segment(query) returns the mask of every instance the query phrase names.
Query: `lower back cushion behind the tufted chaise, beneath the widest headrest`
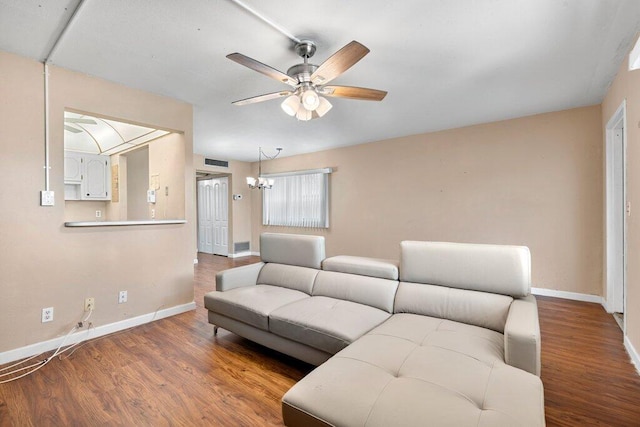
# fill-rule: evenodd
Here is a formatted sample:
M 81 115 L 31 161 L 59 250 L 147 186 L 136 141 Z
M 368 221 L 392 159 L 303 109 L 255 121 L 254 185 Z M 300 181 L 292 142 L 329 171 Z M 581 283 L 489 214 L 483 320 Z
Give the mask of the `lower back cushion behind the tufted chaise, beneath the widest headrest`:
M 400 282 L 394 313 L 449 319 L 504 333 L 512 301 L 506 295 Z

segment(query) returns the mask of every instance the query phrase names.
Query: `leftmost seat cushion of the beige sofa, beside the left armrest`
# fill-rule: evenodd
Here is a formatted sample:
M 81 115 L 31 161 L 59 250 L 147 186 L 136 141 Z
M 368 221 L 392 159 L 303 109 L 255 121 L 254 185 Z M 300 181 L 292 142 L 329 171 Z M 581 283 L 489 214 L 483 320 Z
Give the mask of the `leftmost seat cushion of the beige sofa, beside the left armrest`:
M 204 296 L 204 306 L 215 313 L 269 330 L 269 314 L 289 303 L 310 298 L 304 292 L 280 286 L 255 285 Z

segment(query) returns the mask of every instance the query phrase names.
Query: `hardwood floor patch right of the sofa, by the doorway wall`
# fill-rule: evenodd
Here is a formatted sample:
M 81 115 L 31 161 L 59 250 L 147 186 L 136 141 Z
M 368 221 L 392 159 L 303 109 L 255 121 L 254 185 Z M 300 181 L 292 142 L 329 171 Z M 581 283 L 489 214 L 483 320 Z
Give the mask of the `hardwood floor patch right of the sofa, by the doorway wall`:
M 640 376 L 599 304 L 537 297 L 548 426 L 640 426 Z

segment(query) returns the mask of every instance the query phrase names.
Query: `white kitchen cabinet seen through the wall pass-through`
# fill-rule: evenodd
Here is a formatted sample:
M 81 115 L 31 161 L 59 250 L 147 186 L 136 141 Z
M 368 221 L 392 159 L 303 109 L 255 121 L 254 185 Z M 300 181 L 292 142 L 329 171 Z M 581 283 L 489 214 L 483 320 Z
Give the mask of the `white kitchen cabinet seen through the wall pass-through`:
M 111 200 L 111 159 L 65 151 L 64 184 L 65 200 Z

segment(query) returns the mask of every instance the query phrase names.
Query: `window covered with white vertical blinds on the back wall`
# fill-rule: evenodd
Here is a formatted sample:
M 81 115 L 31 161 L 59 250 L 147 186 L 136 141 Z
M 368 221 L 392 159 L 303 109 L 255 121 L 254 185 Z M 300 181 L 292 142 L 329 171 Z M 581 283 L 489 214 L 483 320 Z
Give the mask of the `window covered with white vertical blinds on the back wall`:
M 329 228 L 331 169 L 265 175 L 273 187 L 262 196 L 262 224 Z

